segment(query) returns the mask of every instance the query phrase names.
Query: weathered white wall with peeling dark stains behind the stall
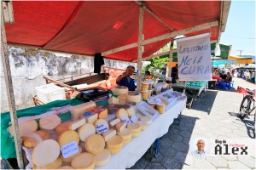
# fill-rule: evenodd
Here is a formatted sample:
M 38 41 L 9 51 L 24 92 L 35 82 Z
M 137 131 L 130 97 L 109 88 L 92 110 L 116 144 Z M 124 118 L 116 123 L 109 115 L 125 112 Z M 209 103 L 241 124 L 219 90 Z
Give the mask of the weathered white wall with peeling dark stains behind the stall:
M 35 87 L 45 84 L 44 76 L 61 79 L 93 72 L 94 59 L 86 55 L 49 53 L 33 48 L 9 47 L 9 59 L 17 109 L 33 106 Z M 105 65 L 125 69 L 137 64 L 105 59 Z M 9 111 L 1 59 L 1 112 Z

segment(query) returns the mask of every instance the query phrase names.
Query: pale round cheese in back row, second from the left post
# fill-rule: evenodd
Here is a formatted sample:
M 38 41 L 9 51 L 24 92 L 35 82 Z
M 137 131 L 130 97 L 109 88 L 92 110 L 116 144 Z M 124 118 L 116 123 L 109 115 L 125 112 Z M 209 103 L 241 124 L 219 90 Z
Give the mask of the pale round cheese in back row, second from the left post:
M 61 118 L 56 115 L 44 116 L 39 120 L 39 127 L 43 130 L 53 130 L 61 124 Z

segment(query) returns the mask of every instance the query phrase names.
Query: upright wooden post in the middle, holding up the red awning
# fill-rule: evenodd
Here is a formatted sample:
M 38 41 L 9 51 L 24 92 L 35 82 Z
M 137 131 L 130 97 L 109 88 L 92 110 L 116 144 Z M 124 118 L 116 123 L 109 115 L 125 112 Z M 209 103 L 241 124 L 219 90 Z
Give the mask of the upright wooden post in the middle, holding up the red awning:
M 143 65 L 143 6 L 139 8 L 138 48 L 137 48 L 137 92 L 141 91 Z

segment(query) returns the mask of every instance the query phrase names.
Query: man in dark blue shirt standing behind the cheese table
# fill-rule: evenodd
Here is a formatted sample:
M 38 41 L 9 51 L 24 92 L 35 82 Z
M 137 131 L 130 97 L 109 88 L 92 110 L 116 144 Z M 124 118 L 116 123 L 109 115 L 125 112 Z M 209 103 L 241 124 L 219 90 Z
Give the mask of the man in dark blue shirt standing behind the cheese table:
M 134 71 L 134 66 L 127 66 L 126 71 L 116 78 L 116 83 L 119 86 L 125 86 L 129 88 L 129 91 L 135 91 L 136 86 L 134 80 L 131 78 L 131 75 L 133 74 Z

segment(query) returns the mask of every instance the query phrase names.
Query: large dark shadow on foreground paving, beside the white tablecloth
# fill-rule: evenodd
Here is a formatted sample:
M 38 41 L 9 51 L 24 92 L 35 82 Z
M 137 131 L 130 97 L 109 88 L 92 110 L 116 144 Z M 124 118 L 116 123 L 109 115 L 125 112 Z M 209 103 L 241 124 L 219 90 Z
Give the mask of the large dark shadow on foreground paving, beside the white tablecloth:
M 152 159 L 152 153 L 148 149 L 131 169 L 182 169 L 186 165 L 189 140 L 197 118 L 183 115 L 179 117 L 180 122 L 175 120 L 168 133 L 160 138 L 159 155 Z

